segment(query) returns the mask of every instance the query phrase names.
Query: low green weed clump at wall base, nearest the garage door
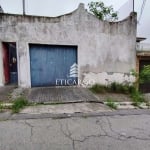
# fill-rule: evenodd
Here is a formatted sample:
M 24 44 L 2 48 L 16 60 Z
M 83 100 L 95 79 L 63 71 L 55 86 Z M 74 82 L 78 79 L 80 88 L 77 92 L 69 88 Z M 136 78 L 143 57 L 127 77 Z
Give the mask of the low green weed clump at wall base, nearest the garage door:
M 95 84 L 91 88 L 89 88 L 93 93 L 105 93 L 107 91 L 107 87 L 101 84 Z

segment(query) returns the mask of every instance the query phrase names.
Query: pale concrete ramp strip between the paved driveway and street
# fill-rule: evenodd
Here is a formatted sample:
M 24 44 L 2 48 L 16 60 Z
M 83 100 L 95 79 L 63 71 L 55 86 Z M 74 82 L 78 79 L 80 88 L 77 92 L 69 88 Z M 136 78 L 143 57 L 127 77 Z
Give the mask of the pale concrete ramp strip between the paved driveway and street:
M 99 113 L 112 111 L 100 103 L 68 103 L 55 105 L 36 105 L 23 109 L 21 114 L 74 114 L 74 113 Z

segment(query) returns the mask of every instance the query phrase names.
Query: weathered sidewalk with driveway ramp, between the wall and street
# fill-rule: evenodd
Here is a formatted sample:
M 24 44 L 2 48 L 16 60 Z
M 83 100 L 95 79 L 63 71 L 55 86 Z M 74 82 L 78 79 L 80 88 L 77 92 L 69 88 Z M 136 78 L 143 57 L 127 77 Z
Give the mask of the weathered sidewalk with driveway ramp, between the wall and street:
M 3 93 L 4 91 L 4 93 Z M 31 106 L 25 107 L 20 111 L 18 115 L 74 115 L 74 114 L 98 114 L 117 112 L 118 110 L 140 110 L 148 109 L 149 106 L 146 103 L 141 103 L 140 107 L 133 106 L 129 95 L 105 93 L 105 94 L 93 94 L 89 89 L 81 87 L 48 87 L 48 88 L 32 88 L 21 89 L 16 87 L 4 87 L 0 88 L 0 98 L 5 97 L 3 105 L 11 106 L 12 100 L 7 99 L 8 96 L 12 96 L 15 99 L 18 96 L 25 96 Z M 149 99 L 150 95 L 147 95 Z M 107 105 L 107 99 L 112 98 L 115 100 L 113 104 L 117 105 L 117 110 L 114 110 Z M 2 99 L 1 99 L 2 100 Z M 9 102 L 9 103 L 7 103 Z M 35 106 L 33 106 L 35 104 Z M 8 111 L 3 114 L 10 114 Z M 0 117 L 1 118 L 1 117 Z M 3 117 L 2 117 L 3 118 Z M 7 118 L 7 117 L 6 117 Z

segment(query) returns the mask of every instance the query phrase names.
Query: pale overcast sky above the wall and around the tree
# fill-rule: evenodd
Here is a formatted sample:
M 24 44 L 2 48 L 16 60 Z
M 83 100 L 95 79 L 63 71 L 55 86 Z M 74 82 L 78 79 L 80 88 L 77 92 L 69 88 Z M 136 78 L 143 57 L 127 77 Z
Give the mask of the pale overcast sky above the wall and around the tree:
M 38 16 L 60 16 L 75 10 L 79 3 L 84 3 L 85 8 L 87 4 L 91 1 L 96 0 L 25 0 L 26 6 L 26 14 L 28 15 L 38 15 Z M 126 3 L 130 1 L 132 4 L 133 0 L 102 0 L 106 6 L 112 5 L 114 10 L 123 12 L 123 17 L 120 19 L 124 19 L 127 17 L 132 9 L 131 5 L 127 5 Z M 135 11 L 140 13 L 141 5 L 143 0 L 135 0 Z M 0 0 L 0 5 L 2 6 L 5 13 L 14 13 L 14 14 L 22 14 L 22 0 Z M 128 7 L 129 6 L 129 7 Z M 146 37 L 148 40 L 146 42 L 150 43 L 150 17 L 149 17 L 149 9 L 150 9 L 150 0 L 147 0 L 145 9 L 143 11 L 143 15 L 138 24 L 138 36 Z

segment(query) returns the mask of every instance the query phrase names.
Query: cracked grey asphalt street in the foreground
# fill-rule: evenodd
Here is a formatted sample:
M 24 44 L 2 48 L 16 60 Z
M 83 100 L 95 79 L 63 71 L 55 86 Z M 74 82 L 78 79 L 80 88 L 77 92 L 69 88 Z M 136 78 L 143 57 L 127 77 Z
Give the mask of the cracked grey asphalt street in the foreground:
M 0 150 L 149 150 L 150 115 L 0 121 Z

